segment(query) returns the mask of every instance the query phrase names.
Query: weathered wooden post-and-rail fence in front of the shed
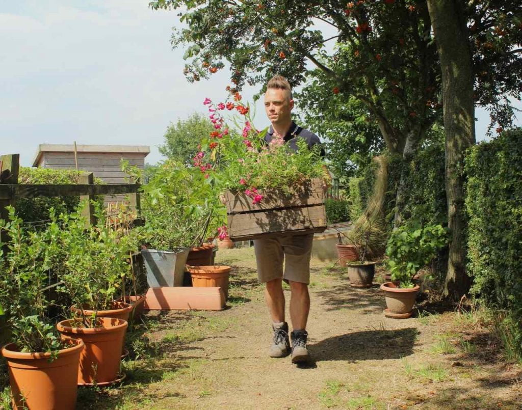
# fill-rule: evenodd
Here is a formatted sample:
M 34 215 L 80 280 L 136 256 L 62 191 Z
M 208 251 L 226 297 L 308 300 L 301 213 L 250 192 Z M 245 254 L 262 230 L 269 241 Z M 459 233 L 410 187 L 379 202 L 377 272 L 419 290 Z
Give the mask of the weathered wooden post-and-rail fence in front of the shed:
M 80 200 L 88 199 L 81 214 L 90 224 L 95 223 L 91 200 L 96 195 L 129 194 L 130 206 L 137 210 L 138 215 L 140 213 L 140 184 L 94 185 L 92 172 L 80 175 L 78 184 L 18 184 L 19 161 L 20 154 L 0 156 L 0 219 L 7 219 L 6 207 L 16 207 L 17 198 L 36 197 L 79 196 Z

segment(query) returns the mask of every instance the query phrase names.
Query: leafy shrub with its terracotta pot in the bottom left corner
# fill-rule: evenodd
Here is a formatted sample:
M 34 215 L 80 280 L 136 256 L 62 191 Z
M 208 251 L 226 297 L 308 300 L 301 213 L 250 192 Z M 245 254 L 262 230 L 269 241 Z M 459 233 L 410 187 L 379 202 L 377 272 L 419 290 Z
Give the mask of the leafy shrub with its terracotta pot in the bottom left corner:
M 10 242 L 0 244 L 0 300 L 11 329 L 2 348 L 14 408 L 74 409 L 84 343 L 62 339 L 49 318 L 52 300 L 45 288 L 55 259 L 52 230 L 29 232 L 14 209 L 0 221 Z

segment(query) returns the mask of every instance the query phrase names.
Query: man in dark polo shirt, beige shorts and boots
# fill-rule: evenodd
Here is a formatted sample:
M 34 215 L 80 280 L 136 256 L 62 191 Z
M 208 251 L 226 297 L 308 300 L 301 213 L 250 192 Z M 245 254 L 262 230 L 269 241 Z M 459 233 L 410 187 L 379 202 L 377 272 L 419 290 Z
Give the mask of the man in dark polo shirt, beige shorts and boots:
M 272 124 L 265 136 L 269 143 L 272 138 L 283 138 L 284 143 L 296 151 L 297 141 L 303 138 L 309 148 L 320 143 L 312 132 L 303 129 L 292 121 L 294 106 L 292 90 L 288 81 L 275 76 L 267 84 L 265 111 Z M 284 294 L 282 281 L 290 285 L 290 319 L 293 331 L 292 363 L 310 360 L 306 348 L 308 333 L 306 321 L 310 311 L 310 253 L 313 234 L 278 236 L 254 240 L 259 281 L 266 283 L 265 299 L 272 319 L 274 343 L 270 347 L 270 357 L 286 357 L 290 354 L 288 324 L 284 319 Z M 284 272 L 283 272 L 284 259 Z

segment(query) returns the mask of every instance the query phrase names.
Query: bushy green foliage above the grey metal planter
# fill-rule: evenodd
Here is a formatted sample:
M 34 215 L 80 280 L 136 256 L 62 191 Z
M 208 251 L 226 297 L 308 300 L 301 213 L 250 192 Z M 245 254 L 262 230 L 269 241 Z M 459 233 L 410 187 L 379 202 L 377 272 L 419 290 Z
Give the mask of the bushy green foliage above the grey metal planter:
M 140 170 L 124 164 L 139 176 Z M 145 226 L 136 232 L 148 247 L 160 250 L 200 246 L 226 223 L 226 210 L 214 180 L 198 167 L 174 160 L 160 163 L 148 183 L 141 186 L 141 214 Z

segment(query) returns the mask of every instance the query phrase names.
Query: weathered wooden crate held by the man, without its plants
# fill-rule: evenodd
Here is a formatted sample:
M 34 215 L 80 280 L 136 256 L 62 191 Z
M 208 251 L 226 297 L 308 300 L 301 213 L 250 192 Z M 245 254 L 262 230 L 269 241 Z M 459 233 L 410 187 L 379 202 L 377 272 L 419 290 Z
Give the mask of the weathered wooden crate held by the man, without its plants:
M 250 240 L 269 235 L 306 234 L 326 229 L 324 191 L 321 179 L 296 186 L 292 194 L 270 189 L 252 204 L 241 192 L 226 192 L 228 233 L 232 240 Z

